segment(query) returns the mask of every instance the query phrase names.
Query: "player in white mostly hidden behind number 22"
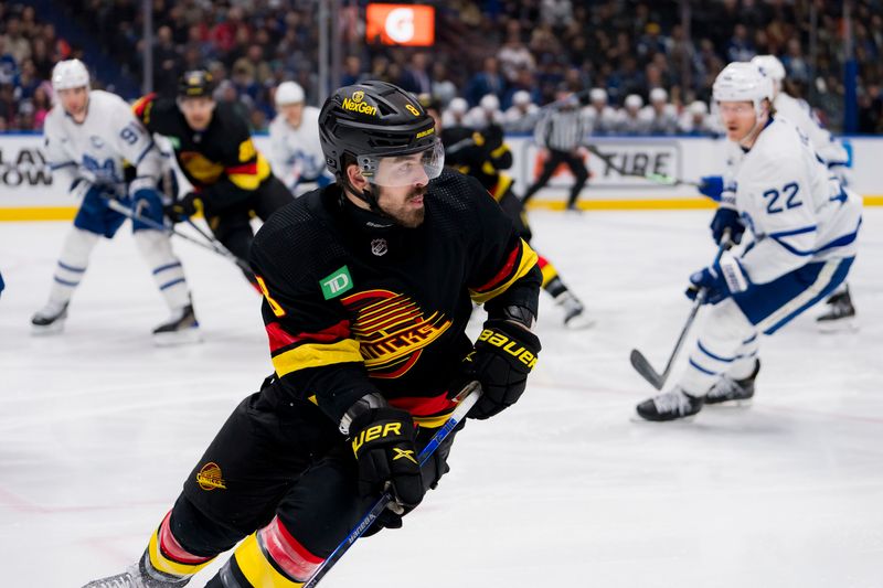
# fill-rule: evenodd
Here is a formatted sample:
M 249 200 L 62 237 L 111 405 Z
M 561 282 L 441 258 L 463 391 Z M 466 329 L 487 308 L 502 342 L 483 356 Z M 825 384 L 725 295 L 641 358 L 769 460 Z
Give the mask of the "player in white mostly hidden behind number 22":
M 757 55 L 752 58 L 752 63 L 760 68 L 766 76 L 773 79 L 773 106 L 781 116 L 797 125 L 804 135 L 809 137 L 810 142 L 816 148 L 816 152 L 828 169 L 837 174 L 843 185 L 849 185 L 850 156 L 842 141 L 836 139 L 819 122 L 818 117 L 812 113 L 812 108 L 805 101 L 791 97 L 786 93 L 781 85 L 785 81 L 785 66 L 775 55 Z M 827 301 L 828 310 L 816 319 L 822 330 L 834 330 L 840 324 L 850 325 L 855 317 L 855 307 L 852 306 L 852 297 L 849 293 L 847 282 L 843 282 Z

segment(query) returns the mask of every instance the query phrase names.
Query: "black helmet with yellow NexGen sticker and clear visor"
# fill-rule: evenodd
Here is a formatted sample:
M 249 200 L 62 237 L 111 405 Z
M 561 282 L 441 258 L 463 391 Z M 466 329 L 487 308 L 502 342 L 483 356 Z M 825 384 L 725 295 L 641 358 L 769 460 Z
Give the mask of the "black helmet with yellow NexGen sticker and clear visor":
M 386 82 L 338 88 L 319 114 L 319 139 L 328 169 L 340 179 L 345 179 L 347 156 L 369 181 L 380 158 L 428 151 L 432 162 L 424 168 L 430 179 L 444 164 L 433 118 L 416 98 Z

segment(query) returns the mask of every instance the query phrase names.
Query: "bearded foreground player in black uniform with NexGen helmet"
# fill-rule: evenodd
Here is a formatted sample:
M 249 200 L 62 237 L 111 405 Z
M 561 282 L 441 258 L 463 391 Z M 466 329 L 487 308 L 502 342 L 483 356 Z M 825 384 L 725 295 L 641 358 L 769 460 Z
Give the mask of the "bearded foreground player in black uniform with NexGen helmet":
M 278 211 L 251 252 L 275 373 L 138 564 L 89 587 L 183 586 L 243 538 L 209 587 L 302 586 L 384 488 L 395 512 L 374 532 L 401 526 L 448 471 L 454 435 L 423 468 L 413 456 L 464 383 L 483 387 L 477 419 L 524 392 L 540 352 L 536 254 L 478 181 L 443 171 L 433 119 L 396 86 L 340 88 L 319 125 L 337 182 Z M 475 344 L 472 301 L 488 313 Z

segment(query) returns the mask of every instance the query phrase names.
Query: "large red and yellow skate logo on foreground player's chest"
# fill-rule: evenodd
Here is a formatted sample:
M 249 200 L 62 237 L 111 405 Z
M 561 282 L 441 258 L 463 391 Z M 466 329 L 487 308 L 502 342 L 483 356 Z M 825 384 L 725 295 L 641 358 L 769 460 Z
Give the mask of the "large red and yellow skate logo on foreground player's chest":
M 371 377 L 401 377 L 451 325 L 444 313 L 426 317 L 414 300 L 390 290 L 366 290 L 341 302 L 357 317 L 351 332 Z

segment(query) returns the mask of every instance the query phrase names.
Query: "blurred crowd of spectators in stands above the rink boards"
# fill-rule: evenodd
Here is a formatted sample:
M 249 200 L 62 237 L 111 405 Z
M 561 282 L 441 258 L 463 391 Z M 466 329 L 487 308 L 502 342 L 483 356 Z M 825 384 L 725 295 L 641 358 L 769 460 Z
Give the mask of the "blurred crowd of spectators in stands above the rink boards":
M 72 56 L 93 70 L 94 87 L 136 98 L 145 74 L 141 4 L 0 2 L 0 131 L 41 129 L 52 104 L 52 66 Z M 153 89 L 172 94 L 184 71 L 206 67 L 220 82 L 216 98 L 234 104 L 253 130 L 266 130 L 280 82 L 297 81 L 308 103 L 318 101 L 318 4 L 152 0 Z M 342 84 L 385 79 L 434 95 L 448 117 L 468 116 L 476 126 L 498 118 L 510 130 L 530 130 L 521 128 L 530 117 L 510 110 L 515 103 L 528 113 L 572 92 L 581 93 L 597 133 L 714 133 L 708 103 L 715 75 L 756 54 L 777 55 L 789 93 L 841 130 L 851 26 L 855 128 L 883 132 L 883 0 L 852 0 L 850 22 L 840 1 L 698 0 L 689 2 L 687 28 L 678 0 L 450 0 L 434 3 L 433 47 L 366 43 L 364 4 L 342 1 Z M 669 122 L 648 124 L 652 108 Z M 522 124 L 507 121 L 507 110 Z

